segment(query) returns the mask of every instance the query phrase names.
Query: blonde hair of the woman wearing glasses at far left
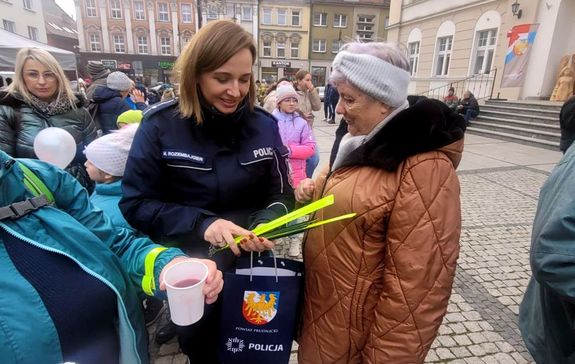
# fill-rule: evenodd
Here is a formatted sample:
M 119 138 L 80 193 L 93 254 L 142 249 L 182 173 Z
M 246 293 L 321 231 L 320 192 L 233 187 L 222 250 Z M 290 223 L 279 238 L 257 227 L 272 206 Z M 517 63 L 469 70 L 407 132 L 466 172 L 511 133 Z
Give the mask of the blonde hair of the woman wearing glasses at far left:
M 6 91 L 9 94 L 19 94 L 24 102 L 27 104 L 32 104 L 32 93 L 26 87 L 26 82 L 24 82 L 24 64 L 27 60 L 33 60 L 41 63 L 50 72 L 56 75 L 58 80 L 58 89 L 56 91 L 56 96 L 54 99 L 67 100 L 70 106 L 75 109 L 76 102 L 78 102 L 68 78 L 64 74 L 64 70 L 48 51 L 40 48 L 22 48 L 16 54 L 16 65 L 14 67 L 14 81 L 8 86 Z

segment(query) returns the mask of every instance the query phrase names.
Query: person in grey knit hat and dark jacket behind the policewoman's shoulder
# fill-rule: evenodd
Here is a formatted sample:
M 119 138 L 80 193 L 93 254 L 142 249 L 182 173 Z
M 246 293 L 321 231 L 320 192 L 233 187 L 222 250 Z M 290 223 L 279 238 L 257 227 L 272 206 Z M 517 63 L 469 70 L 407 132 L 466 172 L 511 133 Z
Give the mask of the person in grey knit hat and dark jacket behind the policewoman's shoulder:
M 133 81 L 123 72 L 112 72 L 106 78 L 106 86 L 101 86 L 94 92 L 94 103 L 98 104 L 96 119 L 102 127 L 102 132 L 108 134 L 117 129 L 116 121 L 124 111 L 131 110 L 125 99 L 132 97 L 139 110 L 144 110 L 144 94 L 134 89 Z

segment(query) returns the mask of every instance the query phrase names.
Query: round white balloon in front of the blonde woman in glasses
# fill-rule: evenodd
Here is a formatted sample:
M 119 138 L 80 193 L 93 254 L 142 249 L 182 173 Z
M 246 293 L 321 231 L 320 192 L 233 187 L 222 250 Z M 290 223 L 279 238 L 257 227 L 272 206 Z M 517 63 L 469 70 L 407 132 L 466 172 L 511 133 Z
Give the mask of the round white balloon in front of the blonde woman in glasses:
M 46 128 L 34 138 L 34 152 L 38 159 L 64 169 L 76 155 L 76 141 L 64 129 Z

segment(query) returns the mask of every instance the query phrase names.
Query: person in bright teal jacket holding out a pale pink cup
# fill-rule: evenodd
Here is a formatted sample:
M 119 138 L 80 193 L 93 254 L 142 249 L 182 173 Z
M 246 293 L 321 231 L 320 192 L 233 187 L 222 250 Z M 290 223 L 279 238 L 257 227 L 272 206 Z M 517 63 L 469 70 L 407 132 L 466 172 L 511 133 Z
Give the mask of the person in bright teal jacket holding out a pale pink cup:
M 24 168 L 42 195 L 24 184 Z M 68 173 L 2 151 L 0 206 L 2 362 L 148 363 L 143 278 L 161 295 L 166 268 L 190 258 L 115 227 Z M 222 274 L 202 262 L 212 303 Z

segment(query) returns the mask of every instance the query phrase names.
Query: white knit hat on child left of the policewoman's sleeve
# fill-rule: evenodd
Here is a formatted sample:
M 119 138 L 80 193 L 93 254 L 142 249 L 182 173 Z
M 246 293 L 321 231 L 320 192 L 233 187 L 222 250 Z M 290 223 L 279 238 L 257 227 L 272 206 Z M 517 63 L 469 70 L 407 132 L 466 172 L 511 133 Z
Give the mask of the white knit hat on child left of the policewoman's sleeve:
M 122 177 L 138 126 L 130 124 L 94 140 L 84 150 L 86 159 L 104 173 Z

